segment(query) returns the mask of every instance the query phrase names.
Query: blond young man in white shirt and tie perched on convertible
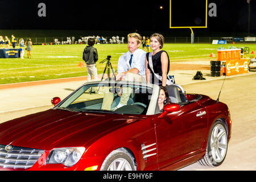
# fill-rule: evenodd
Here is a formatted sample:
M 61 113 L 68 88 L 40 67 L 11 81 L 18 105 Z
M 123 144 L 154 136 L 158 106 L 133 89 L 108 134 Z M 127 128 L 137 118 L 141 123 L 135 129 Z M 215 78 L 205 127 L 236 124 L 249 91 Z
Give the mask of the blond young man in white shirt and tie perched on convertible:
M 129 51 L 118 59 L 116 80 L 146 82 L 145 57 L 146 52 L 139 49 L 142 43 L 141 35 L 132 33 L 127 36 Z M 119 104 L 112 110 L 127 105 L 132 89 L 122 89 L 122 96 Z M 105 93 L 102 109 L 110 110 L 113 101 L 113 93 Z

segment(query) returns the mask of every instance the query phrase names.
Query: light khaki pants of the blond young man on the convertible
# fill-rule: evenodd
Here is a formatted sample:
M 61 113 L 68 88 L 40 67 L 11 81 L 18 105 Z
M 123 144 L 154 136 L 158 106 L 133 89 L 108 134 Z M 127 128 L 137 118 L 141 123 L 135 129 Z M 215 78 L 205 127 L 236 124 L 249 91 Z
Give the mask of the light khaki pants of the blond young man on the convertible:
M 135 74 L 135 73 L 126 73 L 125 77 L 126 81 L 137 81 L 137 82 L 142 82 L 144 81 L 143 77 L 141 75 Z M 122 96 L 120 98 L 119 104 L 122 105 L 127 105 L 127 101 L 129 100 L 129 97 L 131 95 L 131 92 L 133 92 L 133 89 L 130 87 L 125 87 L 122 89 Z M 109 92 L 109 88 L 105 90 L 103 102 L 101 109 L 105 110 L 111 110 L 111 104 L 114 99 L 114 93 Z

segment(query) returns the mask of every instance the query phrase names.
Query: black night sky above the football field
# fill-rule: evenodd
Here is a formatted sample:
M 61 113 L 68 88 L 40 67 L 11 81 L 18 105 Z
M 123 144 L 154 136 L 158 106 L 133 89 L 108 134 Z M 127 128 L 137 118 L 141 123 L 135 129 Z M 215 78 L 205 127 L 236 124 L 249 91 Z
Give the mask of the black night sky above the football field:
M 38 4 L 46 4 L 46 17 Z M 217 16 L 208 16 L 208 31 L 248 31 L 246 0 L 208 0 Z M 172 0 L 172 22 L 200 26 L 205 22 L 205 1 Z M 163 6 L 163 9 L 159 7 Z M 1 29 L 47 30 L 170 30 L 170 1 L 0 1 Z M 201 23 L 201 24 L 200 24 Z M 256 34 L 256 0 L 250 1 L 250 31 Z

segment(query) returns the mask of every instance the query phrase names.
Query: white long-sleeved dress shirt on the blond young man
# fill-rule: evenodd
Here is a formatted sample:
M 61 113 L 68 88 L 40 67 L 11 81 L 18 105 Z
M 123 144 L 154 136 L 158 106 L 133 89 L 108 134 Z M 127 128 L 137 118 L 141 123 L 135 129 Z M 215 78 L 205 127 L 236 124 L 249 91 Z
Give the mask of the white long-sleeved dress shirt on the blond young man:
M 132 54 L 133 54 L 133 58 L 131 60 L 131 66 L 130 66 L 129 61 Z M 139 70 L 139 73 L 138 73 L 139 75 L 142 75 L 142 76 L 146 75 L 145 57 L 146 57 L 146 52 L 143 51 L 142 49 L 137 49 L 133 53 L 130 53 L 130 51 L 124 53 L 118 59 L 117 72 L 122 73 L 122 72 L 128 71 L 129 69 L 137 68 Z

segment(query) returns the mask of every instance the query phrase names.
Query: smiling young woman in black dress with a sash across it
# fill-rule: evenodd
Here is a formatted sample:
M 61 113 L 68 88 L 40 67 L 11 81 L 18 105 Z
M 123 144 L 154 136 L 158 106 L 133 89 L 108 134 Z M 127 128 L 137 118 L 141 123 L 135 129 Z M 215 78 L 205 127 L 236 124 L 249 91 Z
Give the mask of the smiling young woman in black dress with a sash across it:
M 148 63 L 148 56 L 150 53 L 146 54 L 146 80 L 148 83 L 158 84 L 162 86 L 166 86 L 167 75 L 170 70 L 170 60 L 166 51 L 163 51 L 163 42 L 164 38 L 161 34 L 153 34 L 150 37 L 150 47 L 152 49 L 152 68 L 156 75 L 162 77 L 159 80 L 159 77 L 156 77 L 150 65 Z

